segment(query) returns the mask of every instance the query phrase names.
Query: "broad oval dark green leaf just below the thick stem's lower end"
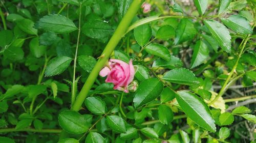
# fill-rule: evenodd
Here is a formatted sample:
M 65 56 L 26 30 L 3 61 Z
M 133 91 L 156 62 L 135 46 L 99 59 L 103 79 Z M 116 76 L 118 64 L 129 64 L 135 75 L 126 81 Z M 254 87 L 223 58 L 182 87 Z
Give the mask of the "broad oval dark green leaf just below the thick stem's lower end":
M 73 110 L 59 113 L 58 121 L 60 127 L 68 133 L 81 134 L 88 130 L 86 118 Z

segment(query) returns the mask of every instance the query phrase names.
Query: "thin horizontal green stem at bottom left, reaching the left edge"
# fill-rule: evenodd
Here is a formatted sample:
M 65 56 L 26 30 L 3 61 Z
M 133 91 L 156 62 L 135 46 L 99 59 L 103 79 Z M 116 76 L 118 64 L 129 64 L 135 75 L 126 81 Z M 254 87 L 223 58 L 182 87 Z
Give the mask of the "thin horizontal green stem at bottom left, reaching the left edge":
M 0 133 L 6 133 L 6 132 L 38 132 L 38 133 L 60 133 L 60 129 L 33 129 L 33 128 L 27 128 L 22 130 L 17 130 L 15 128 L 6 128 L 6 129 L 0 129 Z

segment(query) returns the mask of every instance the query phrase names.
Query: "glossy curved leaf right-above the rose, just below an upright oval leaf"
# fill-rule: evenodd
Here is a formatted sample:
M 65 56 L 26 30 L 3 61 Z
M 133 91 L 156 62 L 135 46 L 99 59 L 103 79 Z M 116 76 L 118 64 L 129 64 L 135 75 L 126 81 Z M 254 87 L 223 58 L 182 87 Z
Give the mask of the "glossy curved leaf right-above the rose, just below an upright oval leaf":
M 147 53 L 159 56 L 163 60 L 170 60 L 170 52 L 164 45 L 150 44 L 147 45 L 144 49 Z

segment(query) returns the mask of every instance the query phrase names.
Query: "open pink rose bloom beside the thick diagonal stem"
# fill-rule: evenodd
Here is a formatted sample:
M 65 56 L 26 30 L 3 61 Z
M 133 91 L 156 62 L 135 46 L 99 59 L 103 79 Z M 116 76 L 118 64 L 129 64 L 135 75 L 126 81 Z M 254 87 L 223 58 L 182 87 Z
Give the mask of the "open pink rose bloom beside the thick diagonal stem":
M 133 81 L 135 70 L 132 60 L 129 64 L 116 59 L 110 59 L 109 67 L 104 67 L 99 75 L 106 77 L 105 82 L 113 83 L 114 90 L 128 93 L 128 85 Z

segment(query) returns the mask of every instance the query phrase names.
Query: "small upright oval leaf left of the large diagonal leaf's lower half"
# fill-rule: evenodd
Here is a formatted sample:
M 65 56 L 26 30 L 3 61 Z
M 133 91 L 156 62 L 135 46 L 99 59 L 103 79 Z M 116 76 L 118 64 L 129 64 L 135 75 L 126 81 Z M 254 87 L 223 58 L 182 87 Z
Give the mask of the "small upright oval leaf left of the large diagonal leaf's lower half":
M 174 119 L 173 110 L 167 105 L 160 105 L 158 107 L 158 117 L 162 124 L 168 125 Z

